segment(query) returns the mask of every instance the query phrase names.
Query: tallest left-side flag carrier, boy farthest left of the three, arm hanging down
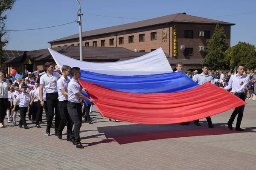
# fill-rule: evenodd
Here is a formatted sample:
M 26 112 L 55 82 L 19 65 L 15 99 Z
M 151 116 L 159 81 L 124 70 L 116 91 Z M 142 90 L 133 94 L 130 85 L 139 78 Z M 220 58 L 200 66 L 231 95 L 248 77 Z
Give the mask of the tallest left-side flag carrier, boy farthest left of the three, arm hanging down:
M 39 96 L 41 99 L 43 98 L 43 88 L 45 87 L 48 108 L 46 133 L 47 135 L 50 135 L 50 128 L 55 114 L 55 135 L 57 136 L 58 127 L 60 125 L 57 81 L 61 77 L 61 74 L 53 72 L 54 65 L 52 62 L 45 63 L 44 67 L 47 69 L 47 72 L 40 78 Z M 44 101 L 41 100 L 40 103 L 41 106 L 44 107 Z

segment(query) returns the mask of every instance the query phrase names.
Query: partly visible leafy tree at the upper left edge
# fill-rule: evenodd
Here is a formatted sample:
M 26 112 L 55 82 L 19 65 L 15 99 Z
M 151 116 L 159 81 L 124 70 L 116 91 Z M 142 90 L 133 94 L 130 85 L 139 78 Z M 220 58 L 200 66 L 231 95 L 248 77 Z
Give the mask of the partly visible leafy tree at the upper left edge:
M 4 68 L 3 66 L 3 48 L 8 43 L 8 41 L 3 40 L 4 36 L 6 35 L 5 31 L 5 21 L 7 15 L 5 14 L 6 11 L 11 10 L 13 4 L 16 0 L 0 0 L 0 67 Z

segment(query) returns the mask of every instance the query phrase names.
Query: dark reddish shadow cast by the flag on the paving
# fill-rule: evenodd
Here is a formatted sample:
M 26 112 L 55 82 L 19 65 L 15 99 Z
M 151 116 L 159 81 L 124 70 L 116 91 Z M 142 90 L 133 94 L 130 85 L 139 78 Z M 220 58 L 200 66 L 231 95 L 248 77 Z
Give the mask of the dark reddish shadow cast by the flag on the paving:
M 206 121 L 205 121 L 206 122 Z M 204 125 L 206 124 L 206 125 Z M 107 139 L 113 138 L 119 144 L 128 144 L 134 142 L 151 141 L 157 139 L 170 139 L 191 136 L 208 136 L 208 135 L 224 135 L 230 133 L 248 133 L 256 132 L 250 127 L 244 132 L 230 130 L 224 127 L 224 124 L 214 124 L 215 128 L 208 128 L 207 123 L 202 123 L 201 126 L 194 126 L 193 122 L 188 126 L 174 125 L 119 125 L 98 127 L 99 133 L 104 133 Z M 235 129 L 233 127 L 233 129 Z M 112 141 L 111 141 L 112 142 Z

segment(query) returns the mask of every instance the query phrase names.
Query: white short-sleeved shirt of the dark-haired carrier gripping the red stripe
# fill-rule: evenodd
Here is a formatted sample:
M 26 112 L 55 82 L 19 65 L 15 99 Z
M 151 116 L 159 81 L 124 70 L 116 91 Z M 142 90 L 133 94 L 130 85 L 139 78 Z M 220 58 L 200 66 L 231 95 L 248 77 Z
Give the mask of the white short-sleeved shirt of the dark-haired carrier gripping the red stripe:
M 78 80 L 71 79 L 67 86 L 67 100 L 74 103 L 80 103 L 81 99 L 76 96 L 77 93 L 80 93 L 81 87 L 78 83 Z

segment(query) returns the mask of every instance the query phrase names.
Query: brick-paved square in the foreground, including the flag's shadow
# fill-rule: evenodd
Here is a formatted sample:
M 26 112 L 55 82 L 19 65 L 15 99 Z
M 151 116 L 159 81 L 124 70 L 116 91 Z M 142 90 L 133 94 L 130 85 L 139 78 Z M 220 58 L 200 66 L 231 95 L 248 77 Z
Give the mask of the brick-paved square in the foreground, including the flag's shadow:
M 233 110 L 212 116 L 209 129 L 206 119 L 201 127 L 110 122 L 94 107 L 93 124 L 81 127 L 84 149 L 65 135 L 45 136 L 46 124 L 37 129 L 27 120 L 25 130 L 5 120 L 0 170 L 256 170 L 256 101 L 247 102 L 245 132 L 227 128 Z

